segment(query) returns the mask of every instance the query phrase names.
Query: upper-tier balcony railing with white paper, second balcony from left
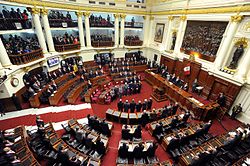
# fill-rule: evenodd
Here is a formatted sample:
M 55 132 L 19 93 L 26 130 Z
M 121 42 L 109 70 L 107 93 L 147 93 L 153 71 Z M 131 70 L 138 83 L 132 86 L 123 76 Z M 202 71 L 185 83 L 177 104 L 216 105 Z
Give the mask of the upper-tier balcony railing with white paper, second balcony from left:
M 70 19 L 49 19 L 49 25 L 52 28 L 67 28 L 67 27 L 77 27 L 78 23 L 76 20 Z

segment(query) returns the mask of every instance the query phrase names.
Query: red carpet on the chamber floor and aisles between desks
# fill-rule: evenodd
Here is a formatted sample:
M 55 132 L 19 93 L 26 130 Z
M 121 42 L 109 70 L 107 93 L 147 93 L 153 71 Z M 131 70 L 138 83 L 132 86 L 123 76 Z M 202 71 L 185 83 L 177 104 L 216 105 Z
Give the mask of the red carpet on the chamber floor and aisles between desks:
M 146 82 L 142 82 L 142 90 L 140 94 L 132 95 L 132 96 L 124 96 L 122 97 L 122 100 L 129 100 L 129 102 L 132 99 L 135 99 L 136 102 L 139 100 L 143 101 L 144 99 L 148 99 L 152 93 L 152 87 L 147 84 Z M 202 99 L 201 99 L 202 100 Z M 204 99 L 203 99 L 204 100 Z M 59 121 L 65 121 L 69 120 L 71 118 L 76 118 L 80 119 L 83 117 L 86 117 L 87 114 L 94 114 L 97 115 L 98 117 L 105 118 L 105 112 L 108 108 L 111 109 L 117 109 L 117 100 L 113 101 L 110 105 L 100 105 L 100 104 L 91 104 L 92 110 L 82 110 L 82 111 L 65 111 L 65 112 L 60 112 L 60 113 L 47 113 L 47 114 L 42 114 L 41 118 L 45 122 L 59 122 Z M 205 101 L 205 100 L 204 100 Z M 80 101 L 78 101 L 80 103 Z M 161 108 L 164 105 L 168 104 L 169 101 L 166 102 L 160 102 L 157 103 L 156 101 L 153 101 L 153 108 Z M 196 121 L 191 120 L 191 123 L 195 123 Z M 224 126 L 222 126 L 222 125 Z M 213 135 L 219 135 L 226 130 L 233 129 L 236 126 L 240 124 L 240 122 L 236 120 L 231 120 L 229 119 L 228 116 L 225 116 L 224 119 L 222 120 L 221 124 L 215 120 L 213 122 L 213 125 L 210 129 L 210 133 Z M 23 117 L 17 117 L 17 118 L 12 118 L 8 120 L 2 120 L 0 121 L 0 129 L 8 129 L 8 128 L 13 128 L 18 125 L 35 125 L 35 115 L 27 115 Z M 116 165 L 116 157 L 118 153 L 118 143 L 121 140 L 121 124 L 114 123 L 114 128 L 112 130 L 112 136 L 110 137 L 109 140 L 109 146 L 108 146 L 108 152 L 104 156 L 102 160 L 102 165 L 103 166 L 114 166 Z M 63 130 L 58 131 L 58 133 L 61 135 L 63 133 Z M 154 138 L 146 131 L 143 129 L 142 131 L 142 139 L 143 140 L 154 140 Z M 161 146 L 158 147 L 156 151 L 156 156 L 160 159 L 160 161 L 165 161 L 170 159 L 170 156 L 163 150 Z

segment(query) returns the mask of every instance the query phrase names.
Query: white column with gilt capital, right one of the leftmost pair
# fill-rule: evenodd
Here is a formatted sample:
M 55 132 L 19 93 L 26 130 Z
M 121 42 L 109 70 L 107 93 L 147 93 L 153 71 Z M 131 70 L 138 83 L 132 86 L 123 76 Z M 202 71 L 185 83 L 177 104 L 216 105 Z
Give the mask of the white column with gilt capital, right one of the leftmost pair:
M 42 20 L 43 20 L 44 31 L 46 34 L 47 44 L 49 47 L 49 52 L 55 52 L 54 42 L 53 42 L 53 38 L 51 35 L 50 26 L 49 26 L 48 10 L 47 9 L 43 9 L 43 11 L 42 11 Z

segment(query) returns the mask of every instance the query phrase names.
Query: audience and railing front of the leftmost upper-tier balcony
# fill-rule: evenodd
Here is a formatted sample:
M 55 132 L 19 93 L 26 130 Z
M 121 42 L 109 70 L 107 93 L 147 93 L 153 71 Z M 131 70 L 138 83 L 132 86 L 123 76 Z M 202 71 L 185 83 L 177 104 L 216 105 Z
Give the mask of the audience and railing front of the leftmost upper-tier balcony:
M 23 29 L 32 27 L 27 10 L 24 9 L 23 12 L 21 12 L 19 8 L 17 8 L 16 11 L 14 8 L 11 8 L 11 11 L 9 11 L 6 6 L 3 6 L 3 10 L 0 12 L 0 30 L 19 29 L 20 27 L 17 26 L 16 23 L 20 23 Z

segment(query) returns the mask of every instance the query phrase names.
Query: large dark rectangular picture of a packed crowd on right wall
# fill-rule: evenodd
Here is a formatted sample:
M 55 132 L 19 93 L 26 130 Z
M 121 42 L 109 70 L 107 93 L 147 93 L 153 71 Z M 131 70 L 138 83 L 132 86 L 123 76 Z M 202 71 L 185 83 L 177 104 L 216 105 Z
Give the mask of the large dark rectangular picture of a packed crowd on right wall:
M 195 24 L 188 23 L 182 48 L 207 56 L 216 56 L 226 23 Z

